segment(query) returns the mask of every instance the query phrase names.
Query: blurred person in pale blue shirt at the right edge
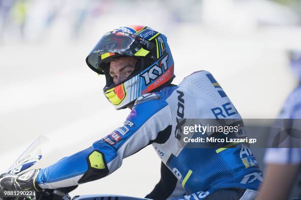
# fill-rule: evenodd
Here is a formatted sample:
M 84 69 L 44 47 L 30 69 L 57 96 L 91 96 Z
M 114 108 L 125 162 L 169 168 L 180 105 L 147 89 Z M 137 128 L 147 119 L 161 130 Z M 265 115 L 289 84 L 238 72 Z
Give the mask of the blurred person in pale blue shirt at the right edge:
M 278 119 L 297 119 L 290 127 L 297 128 L 300 135 L 301 119 L 301 50 L 289 52 L 290 65 L 298 77 L 298 87 L 285 101 Z M 300 137 L 299 137 L 300 138 Z M 296 140 L 292 138 L 291 140 Z M 293 142 L 293 141 L 291 141 Z M 299 144 L 301 147 L 301 144 Z M 294 180 L 300 173 L 301 148 L 268 149 L 264 159 L 267 164 L 265 181 L 256 200 L 286 200 L 289 198 Z M 299 196 L 300 197 L 300 196 Z M 301 198 L 301 197 L 300 197 Z

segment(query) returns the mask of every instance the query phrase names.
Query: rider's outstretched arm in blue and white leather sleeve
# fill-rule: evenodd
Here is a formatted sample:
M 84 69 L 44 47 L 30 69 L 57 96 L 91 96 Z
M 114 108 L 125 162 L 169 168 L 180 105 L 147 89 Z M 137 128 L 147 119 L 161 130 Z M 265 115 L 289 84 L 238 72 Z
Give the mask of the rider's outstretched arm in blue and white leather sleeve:
M 40 188 L 60 188 L 96 180 L 113 173 L 122 159 L 151 144 L 158 132 L 171 125 L 170 109 L 163 98 L 135 105 L 123 126 L 96 141 L 90 148 L 41 169 Z

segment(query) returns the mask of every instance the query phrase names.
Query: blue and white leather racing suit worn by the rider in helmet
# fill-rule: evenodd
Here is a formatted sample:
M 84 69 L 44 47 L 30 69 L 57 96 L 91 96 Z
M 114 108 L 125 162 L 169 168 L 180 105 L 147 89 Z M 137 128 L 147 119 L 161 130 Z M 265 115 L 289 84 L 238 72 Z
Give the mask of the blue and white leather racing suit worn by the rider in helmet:
M 120 168 L 123 158 L 152 144 L 178 180 L 168 198 L 196 193 L 202 199 L 221 189 L 258 189 L 262 173 L 247 147 L 237 144 L 237 148 L 222 151 L 179 148 L 179 119 L 241 116 L 209 72 L 195 72 L 178 86 L 138 98 L 123 125 L 90 148 L 41 169 L 36 182 L 41 188 L 53 189 L 96 180 Z

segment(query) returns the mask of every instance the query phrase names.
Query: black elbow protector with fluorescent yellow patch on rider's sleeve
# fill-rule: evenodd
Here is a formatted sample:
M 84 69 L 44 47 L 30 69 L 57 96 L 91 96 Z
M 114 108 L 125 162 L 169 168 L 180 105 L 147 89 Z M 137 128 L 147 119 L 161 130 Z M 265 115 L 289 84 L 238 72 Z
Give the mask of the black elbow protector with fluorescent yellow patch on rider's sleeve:
M 93 150 L 87 156 L 88 170 L 87 172 L 79 179 L 78 183 L 86 183 L 109 174 L 109 169 L 105 160 L 105 156 L 102 152 L 98 150 Z

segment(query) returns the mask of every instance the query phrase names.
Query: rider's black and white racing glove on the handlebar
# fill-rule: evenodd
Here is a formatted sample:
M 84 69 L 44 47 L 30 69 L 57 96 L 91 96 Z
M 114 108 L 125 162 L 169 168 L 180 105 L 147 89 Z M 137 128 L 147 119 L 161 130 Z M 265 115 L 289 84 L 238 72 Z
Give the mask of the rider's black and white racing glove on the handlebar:
M 38 169 L 15 174 L 1 174 L 0 175 L 0 190 L 35 190 L 39 191 L 41 188 L 36 184 L 35 179 L 39 174 Z

